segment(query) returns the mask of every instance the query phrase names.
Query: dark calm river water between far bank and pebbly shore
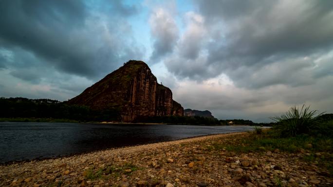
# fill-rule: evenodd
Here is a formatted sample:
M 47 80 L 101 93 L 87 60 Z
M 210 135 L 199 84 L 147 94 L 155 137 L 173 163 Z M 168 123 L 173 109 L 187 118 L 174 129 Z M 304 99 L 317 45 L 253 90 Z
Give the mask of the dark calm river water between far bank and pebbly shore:
M 250 126 L 0 122 L 0 163 L 252 129 Z

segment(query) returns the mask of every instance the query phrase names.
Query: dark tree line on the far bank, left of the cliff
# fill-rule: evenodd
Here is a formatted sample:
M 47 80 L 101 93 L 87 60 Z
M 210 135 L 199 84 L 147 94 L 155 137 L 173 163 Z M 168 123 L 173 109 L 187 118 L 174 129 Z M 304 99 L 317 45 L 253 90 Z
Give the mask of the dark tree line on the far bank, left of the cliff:
M 93 110 L 50 99 L 0 98 L 0 118 L 53 118 L 78 121 L 120 120 L 117 109 Z

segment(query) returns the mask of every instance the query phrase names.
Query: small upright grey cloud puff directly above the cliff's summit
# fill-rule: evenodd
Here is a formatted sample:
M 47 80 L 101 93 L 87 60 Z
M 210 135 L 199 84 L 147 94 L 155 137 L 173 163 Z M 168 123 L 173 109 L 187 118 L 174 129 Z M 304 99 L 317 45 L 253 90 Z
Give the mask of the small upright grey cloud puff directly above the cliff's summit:
M 178 40 L 179 30 L 172 15 L 163 8 L 155 8 L 149 19 L 151 35 L 154 38 L 151 60 L 170 53 Z

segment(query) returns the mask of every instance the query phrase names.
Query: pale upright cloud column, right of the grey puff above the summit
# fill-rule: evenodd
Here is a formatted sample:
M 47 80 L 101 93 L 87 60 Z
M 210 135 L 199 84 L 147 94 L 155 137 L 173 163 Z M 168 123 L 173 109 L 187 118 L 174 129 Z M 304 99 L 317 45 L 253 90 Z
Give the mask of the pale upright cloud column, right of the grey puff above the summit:
M 180 78 L 202 80 L 209 73 L 207 54 L 203 51 L 206 28 L 204 18 L 194 12 L 187 12 L 183 18 L 184 33 L 174 46 L 174 52 L 164 59 L 166 68 Z M 210 75 L 207 74 L 207 77 Z M 206 77 L 205 77 L 206 78 Z

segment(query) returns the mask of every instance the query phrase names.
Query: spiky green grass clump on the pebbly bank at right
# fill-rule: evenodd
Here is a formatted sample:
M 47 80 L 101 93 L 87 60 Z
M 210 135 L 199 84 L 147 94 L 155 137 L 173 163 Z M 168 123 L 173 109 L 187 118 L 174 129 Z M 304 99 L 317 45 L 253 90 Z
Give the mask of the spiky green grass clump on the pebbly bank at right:
M 280 136 L 296 136 L 314 130 L 315 126 L 320 122 L 319 117 L 323 114 L 317 114 L 317 112 L 317 110 L 310 110 L 310 106 L 306 107 L 303 104 L 301 109 L 293 106 L 280 117 L 272 117 L 270 119 L 277 122 L 274 128 L 280 133 Z

